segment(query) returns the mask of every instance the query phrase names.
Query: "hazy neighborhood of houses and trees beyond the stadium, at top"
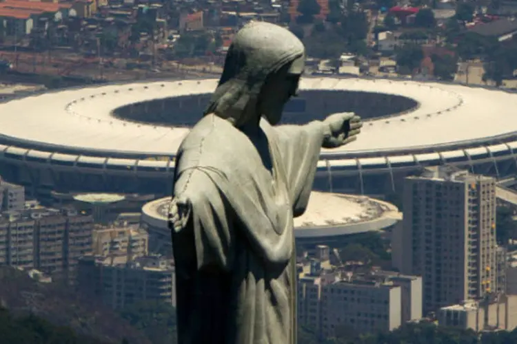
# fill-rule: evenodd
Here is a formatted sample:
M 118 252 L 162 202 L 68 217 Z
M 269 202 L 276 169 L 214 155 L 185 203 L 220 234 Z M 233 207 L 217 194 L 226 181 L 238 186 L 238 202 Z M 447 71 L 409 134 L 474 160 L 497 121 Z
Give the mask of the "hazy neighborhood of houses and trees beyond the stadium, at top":
M 515 1 L 0 2 L 3 74 L 127 80 L 217 74 L 247 21 L 303 40 L 307 72 L 514 88 Z

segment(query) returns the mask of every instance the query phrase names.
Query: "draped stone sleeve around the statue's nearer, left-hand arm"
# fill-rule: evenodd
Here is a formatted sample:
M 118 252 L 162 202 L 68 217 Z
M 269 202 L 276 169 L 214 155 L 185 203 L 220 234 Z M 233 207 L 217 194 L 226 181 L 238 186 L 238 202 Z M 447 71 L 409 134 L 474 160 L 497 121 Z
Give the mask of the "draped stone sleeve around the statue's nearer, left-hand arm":
M 225 196 L 210 178 L 210 171 L 190 169 L 176 177 L 174 199 L 187 202 L 190 215 L 185 228 L 172 233 L 177 259 L 196 260 L 196 270 L 232 269 L 232 215 Z M 186 248 L 190 246 L 191 251 Z M 180 262 L 176 262 L 176 265 Z M 184 261 L 185 264 L 192 262 Z M 194 266 L 192 266 L 194 268 Z

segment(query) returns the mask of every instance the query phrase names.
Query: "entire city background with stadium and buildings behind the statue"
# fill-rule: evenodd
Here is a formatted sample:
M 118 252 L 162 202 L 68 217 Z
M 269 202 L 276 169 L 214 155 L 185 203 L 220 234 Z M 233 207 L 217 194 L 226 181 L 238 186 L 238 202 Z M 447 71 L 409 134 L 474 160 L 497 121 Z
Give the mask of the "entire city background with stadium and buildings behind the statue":
M 364 122 L 322 149 L 294 219 L 298 344 L 517 343 L 516 17 L 514 0 L 0 0 L 0 343 L 178 343 L 176 151 L 250 21 L 306 48 L 281 124 Z

